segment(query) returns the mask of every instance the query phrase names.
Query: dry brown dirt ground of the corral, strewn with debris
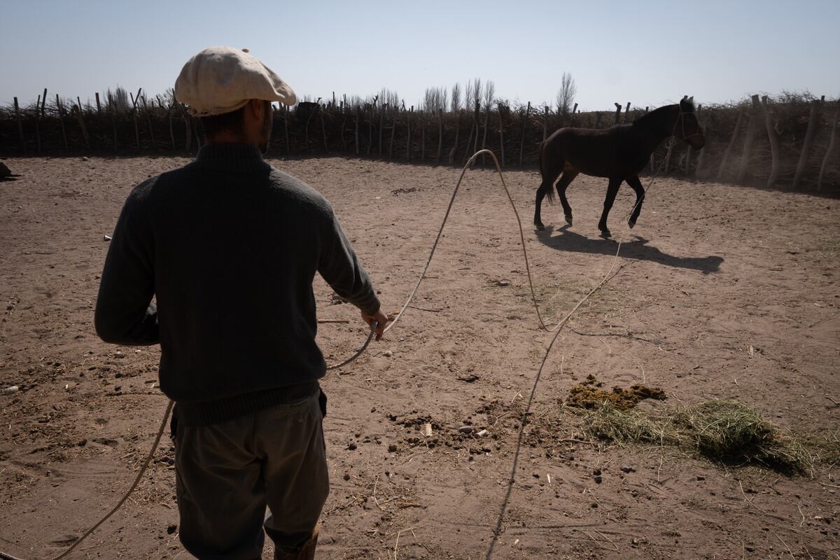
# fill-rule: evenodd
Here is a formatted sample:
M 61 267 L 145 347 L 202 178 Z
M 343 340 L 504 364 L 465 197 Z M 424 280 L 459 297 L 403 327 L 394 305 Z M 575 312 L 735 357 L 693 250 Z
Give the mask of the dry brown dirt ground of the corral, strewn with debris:
M 7 160 L 0 183 L 0 550 L 48 558 L 128 488 L 160 426 L 157 348 L 115 348 L 92 329 L 119 209 L 172 158 Z M 459 170 L 339 158 L 273 161 L 328 196 L 381 290 L 402 305 L 422 270 Z M 538 176 L 507 173 L 540 306 L 556 323 L 612 264 L 598 237 L 603 180 L 570 187 L 530 226 Z M 622 189 L 611 226 L 632 204 Z M 585 303 L 549 356 L 528 296 L 517 223 L 496 175 L 468 173 L 417 301 L 384 342 L 323 380 L 332 493 L 322 558 L 840 559 L 840 473 L 714 464 L 663 447 L 575 442 L 564 407 L 593 374 L 641 381 L 670 403 L 732 398 L 814 442 L 840 427 L 837 200 L 657 181 L 625 266 Z M 365 338 L 318 279 L 328 362 Z M 236 294 L 229 295 L 231 301 Z M 659 406 L 659 403 L 657 403 Z M 432 424 L 431 437 L 423 425 Z M 485 437 L 459 427 L 487 430 Z M 75 557 L 186 558 L 167 438 L 138 491 Z M 622 467 L 625 467 L 622 470 Z M 597 484 L 593 473 L 601 469 Z M 629 472 L 624 472 L 628 470 Z M 265 558 L 270 557 L 270 546 Z

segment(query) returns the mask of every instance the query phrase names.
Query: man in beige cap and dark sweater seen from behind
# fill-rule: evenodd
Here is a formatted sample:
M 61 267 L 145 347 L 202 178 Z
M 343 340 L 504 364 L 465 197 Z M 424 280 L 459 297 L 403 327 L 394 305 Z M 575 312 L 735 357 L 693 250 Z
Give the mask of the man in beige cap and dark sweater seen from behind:
M 311 559 L 329 491 L 315 273 L 378 323 L 377 340 L 388 319 L 328 201 L 262 159 L 270 102 L 293 104 L 291 88 L 247 51 L 213 47 L 184 65 L 175 95 L 207 144 L 129 195 L 97 333 L 160 343 L 160 388 L 177 404 L 186 550 L 259 558 L 265 527 L 276 558 Z

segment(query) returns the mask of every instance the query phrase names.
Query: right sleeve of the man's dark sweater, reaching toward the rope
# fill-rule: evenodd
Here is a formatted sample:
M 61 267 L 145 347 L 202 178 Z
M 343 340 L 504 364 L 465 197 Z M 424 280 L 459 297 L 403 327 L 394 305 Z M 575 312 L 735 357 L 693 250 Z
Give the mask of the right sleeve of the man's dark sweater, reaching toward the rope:
M 359 263 L 332 208 L 323 230 L 318 273 L 339 296 L 359 307 L 366 315 L 373 315 L 379 311 L 379 299 L 370 283 L 370 276 Z

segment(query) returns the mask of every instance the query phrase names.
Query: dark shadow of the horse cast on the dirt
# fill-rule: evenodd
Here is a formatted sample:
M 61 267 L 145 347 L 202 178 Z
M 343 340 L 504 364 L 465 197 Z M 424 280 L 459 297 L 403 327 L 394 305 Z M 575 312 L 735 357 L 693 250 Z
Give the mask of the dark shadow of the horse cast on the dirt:
M 546 247 L 570 253 L 590 254 L 616 254 L 618 242 L 614 239 L 587 238 L 580 233 L 575 233 L 564 225 L 557 231 L 559 235 L 552 235 L 554 228 L 548 226 L 543 231 L 538 231 L 537 238 Z M 663 253 L 653 245 L 648 245 L 648 240 L 634 235 L 633 239 L 625 239 L 622 243 L 621 256 L 627 259 L 649 260 L 662 263 L 666 266 L 674 266 L 680 269 L 700 270 L 703 274 L 717 272 L 723 257 L 711 255 L 708 257 L 675 257 Z

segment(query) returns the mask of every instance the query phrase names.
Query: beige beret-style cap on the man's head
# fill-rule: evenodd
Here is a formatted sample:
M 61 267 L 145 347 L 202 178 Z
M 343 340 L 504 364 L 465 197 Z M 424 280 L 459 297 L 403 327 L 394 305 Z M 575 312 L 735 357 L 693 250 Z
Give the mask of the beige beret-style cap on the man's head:
M 294 105 L 295 92 L 247 49 L 210 47 L 186 61 L 175 82 L 175 98 L 192 115 L 209 117 L 236 111 L 249 99 Z

